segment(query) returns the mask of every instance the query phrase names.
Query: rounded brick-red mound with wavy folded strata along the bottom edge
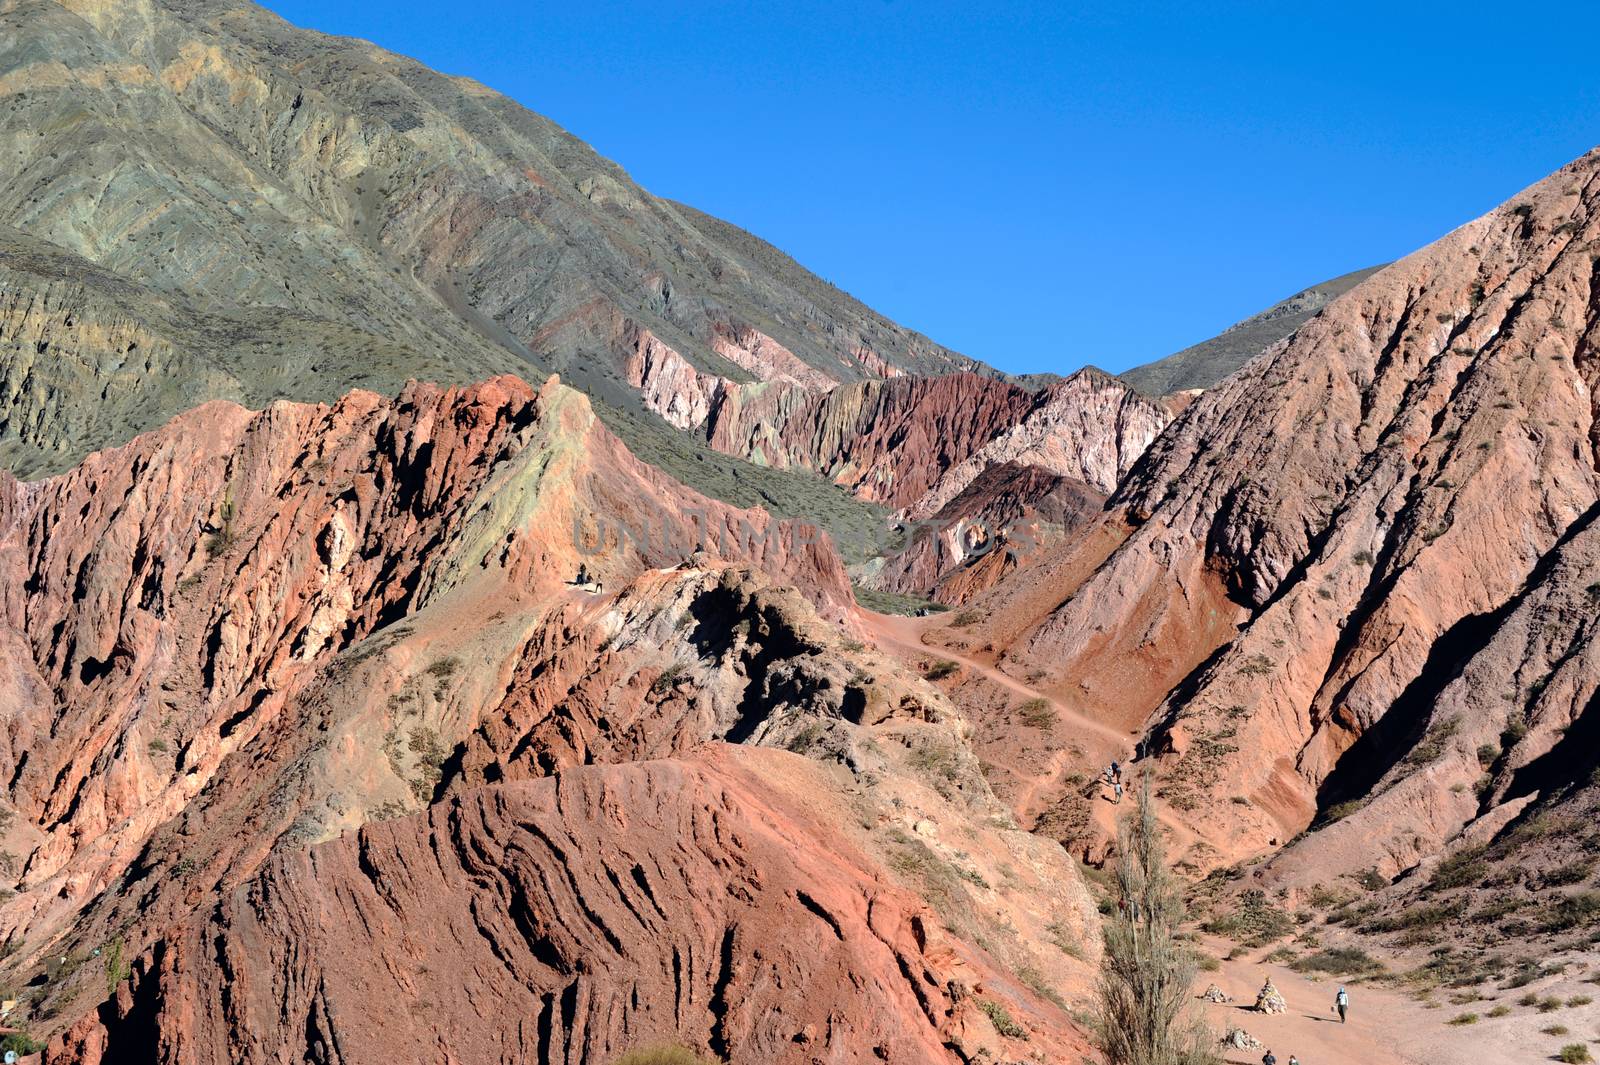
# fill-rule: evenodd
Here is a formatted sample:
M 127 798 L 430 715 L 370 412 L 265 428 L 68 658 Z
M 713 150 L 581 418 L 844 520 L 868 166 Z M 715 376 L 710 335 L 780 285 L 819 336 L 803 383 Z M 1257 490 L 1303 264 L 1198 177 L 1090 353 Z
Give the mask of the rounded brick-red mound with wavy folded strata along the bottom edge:
M 922 1065 L 1086 1049 L 742 755 L 480 788 L 282 852 L 51 1060 L 610 1062 L 674 1043 L 730 1062 Z M 979 1001 L 1029 1043 L 1000 1038 Z

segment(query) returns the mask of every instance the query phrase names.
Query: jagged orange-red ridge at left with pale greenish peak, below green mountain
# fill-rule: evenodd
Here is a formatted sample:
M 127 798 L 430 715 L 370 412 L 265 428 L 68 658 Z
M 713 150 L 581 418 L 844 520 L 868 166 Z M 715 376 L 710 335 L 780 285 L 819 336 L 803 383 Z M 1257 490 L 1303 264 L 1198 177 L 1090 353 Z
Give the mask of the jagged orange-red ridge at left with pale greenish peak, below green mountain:
M 328 656 L 485 572 L 538 598 L 710 545 L 850 601 L 826 537 L 675 486 L 554 381 L 213 403 L 3 488 L 0 772 L 43 833 L 6 931 L 102 888 Z

